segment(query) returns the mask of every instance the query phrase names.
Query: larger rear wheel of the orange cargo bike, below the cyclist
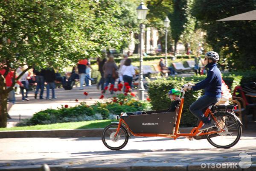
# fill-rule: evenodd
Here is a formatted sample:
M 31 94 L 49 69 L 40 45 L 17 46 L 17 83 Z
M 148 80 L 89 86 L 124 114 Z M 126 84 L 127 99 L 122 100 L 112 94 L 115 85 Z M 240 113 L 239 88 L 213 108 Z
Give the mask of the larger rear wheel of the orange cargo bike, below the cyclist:
M 208 142 L 217 148 L 228 149 L 235 146 L 236 143 L 238 143 L 242 133 L 241 124 L 239 121 L 237 121 L 232 114 L 227 112 L 217 113 L 214 115 L 214 117 L 217 119 L 221 128 L 225 131 L 221 133 L 206 135 Z M 207 132 L 213 130 L 219 131 L 221 129 L 219 127 L 214 127 L 212 129 L 208 129 Z

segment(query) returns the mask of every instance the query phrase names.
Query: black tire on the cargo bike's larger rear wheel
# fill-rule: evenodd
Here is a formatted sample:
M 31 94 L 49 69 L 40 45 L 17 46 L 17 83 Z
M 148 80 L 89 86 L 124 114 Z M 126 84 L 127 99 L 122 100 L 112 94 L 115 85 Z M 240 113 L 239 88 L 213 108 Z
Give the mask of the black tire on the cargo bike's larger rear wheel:
M 235 139 L 232 143 L 230 143 L 230 144 L 228 144 L 228 145 L 225 145 L 225 146 L 221 146 L 221 145 L 218 145 L 218 144 L 214 143 L 214 142 L 212 141 L 212 139 L 211 139 L 211 138 L 214 138 L 214 137 L 211 137 L 211 135 L 205 135 L 205 136 L 206 136 L 206 139 L 208 140 L 208 142 L 209 142 L 212 146 L 215 146 L 215 147 L 217 147 L 217 148 L 223 148 L 223 149 L 228 149 L 228 148 L 230 148 L 230 147 L 235 146 L 236 143 L 238 143 L 238 141 L 240 140 L 241 133 L 242 133 L 241 124 L 239 123 L 239 121 L 237 121 L 237 120 L 235 119 L 235 117 L 234 117 L 232 114 L 228 113 L 228 112 L 218 112 L 218 113 L 214 114 L 214 116 L 215 116 L 216 118 L 217 118 L 217 117 L 221 117 L 221 116 L 225 116 L 225 117 L 228 117 L 228 118 L 230 118 L 231 120 L 233 120 L 234 124 L 235 124 L 236 127 L 237 127 L 238 133 L 237 133 L 236 139 Z M 226 125 L 224 126 L 224 129 L 225 129 L 225 127 L 226 127 Z M 208 132 L 208 130 L 207 130 L 207 132 Z

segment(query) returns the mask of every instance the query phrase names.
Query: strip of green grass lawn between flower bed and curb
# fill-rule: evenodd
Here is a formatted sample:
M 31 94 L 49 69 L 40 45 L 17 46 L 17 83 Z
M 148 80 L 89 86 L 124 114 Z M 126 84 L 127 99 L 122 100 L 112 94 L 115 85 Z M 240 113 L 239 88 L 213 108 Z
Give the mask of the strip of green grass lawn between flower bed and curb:
M 81 121 L 81 122 L 67 122 L 54 123 L 48 125 L 35 126 L 19 126 L 12 128 L 0 128 L 0 131 L 14 131 L 14 130 L 38 130 L 38 129 L 87 129 L 87 128 L 104 128 L 116 120 L 98 120 L 98 121 Z

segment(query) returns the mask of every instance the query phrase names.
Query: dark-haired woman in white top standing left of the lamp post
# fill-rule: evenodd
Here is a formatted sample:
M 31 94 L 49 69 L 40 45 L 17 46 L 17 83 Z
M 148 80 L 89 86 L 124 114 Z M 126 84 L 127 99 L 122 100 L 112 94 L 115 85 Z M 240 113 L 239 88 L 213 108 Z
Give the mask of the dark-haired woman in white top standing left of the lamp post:
M 132 78 L 135 76 L 134 66 L 131 64 L 131 59 L 126 59 L 120 72 L 123 76 L 124 82 L 127 82 L 131 87 Z

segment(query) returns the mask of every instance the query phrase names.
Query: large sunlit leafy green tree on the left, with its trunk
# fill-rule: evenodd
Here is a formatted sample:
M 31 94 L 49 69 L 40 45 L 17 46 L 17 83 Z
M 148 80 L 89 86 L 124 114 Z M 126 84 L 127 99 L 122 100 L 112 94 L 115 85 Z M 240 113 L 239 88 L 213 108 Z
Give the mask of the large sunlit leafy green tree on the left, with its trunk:
M 29 68 L 63 67 L 82 57 L 97 56 L 103 48 L 121 48 L 133 25 L 120 20 L 132 14 L 122 3 L 125 1 L 2 0 L 0 68 L 7 74 L 25 64 Z M 6 126 L 7 94 L 20 77 L 6 89 L 6 74 L 0 78 L 0 126 Z

